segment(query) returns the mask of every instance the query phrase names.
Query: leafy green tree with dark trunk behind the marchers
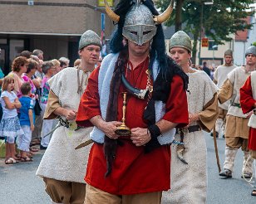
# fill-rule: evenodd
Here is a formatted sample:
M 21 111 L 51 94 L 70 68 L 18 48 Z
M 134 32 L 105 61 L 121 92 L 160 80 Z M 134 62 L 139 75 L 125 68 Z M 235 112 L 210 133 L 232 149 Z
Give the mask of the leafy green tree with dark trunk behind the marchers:
M 213 5 L 204 5 L 204 2 L 205 0 L 176 0 L 174 12 L 165 25 L 175 25 L 176 32 L 190 32 L 194 39 L 199 39 L 203 28 L 204 34 L 213 39 L 215 45 L 231 41 L 230 34 L 252 27 L 246 22 L 246 17 L 253 14 L 247 10 L 254 0 L 214 0 Z M 170 0 L 156 0 L 155 3 L 163 12 Z M 197 42 L 194 40 L 192 61 L 195 61 Z

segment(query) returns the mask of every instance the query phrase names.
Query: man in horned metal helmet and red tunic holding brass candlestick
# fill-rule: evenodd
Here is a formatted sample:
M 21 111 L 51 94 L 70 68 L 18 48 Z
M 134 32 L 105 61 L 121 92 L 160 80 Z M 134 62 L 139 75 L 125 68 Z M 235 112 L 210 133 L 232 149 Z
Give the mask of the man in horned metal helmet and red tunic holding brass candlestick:
M 115 12 L 106 4 L 117 23 L 112 53 L 91 74 L 76 117 L 95 126 L 87 204 L 160 203 L 170 189 L 169 144 L 175 127 L 188 124 L 188 78 L 165 54 L 161 27 L 172 4 L 163 15 L 151 0 L 121 0 Z

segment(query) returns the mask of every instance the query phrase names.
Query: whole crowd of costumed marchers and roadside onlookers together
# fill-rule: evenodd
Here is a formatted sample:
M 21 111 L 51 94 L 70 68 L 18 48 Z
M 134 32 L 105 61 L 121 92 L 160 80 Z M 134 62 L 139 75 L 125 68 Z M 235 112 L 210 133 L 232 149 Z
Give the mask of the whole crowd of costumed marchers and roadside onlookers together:
M 74 67 L 66 58 L 43 61 L 40 50 L 12 62 L 2 80 L 5 163 L 31 162 L 32 144 L 46 149 L 37 176 L 52 203 L 155 204 L 169 189 L 170 203 L 206 203 L 203 130 L 214 129 L 226 142 L 219 176 L 232 177 L 242 148 L 241 176 L 253 177 L 256 46 L 245 66 L 234 66 L 225 51 L 211 79 L 205 63 L 192 66 L 185 32 L 175 32 L 166 53 L 161 23 L 172 3 L 165 15 L 150 0 L 120 1 L 115 11 L 106 3 L 106 12 L 117 29 L 103 61 L 101 39 L 88 30 Z

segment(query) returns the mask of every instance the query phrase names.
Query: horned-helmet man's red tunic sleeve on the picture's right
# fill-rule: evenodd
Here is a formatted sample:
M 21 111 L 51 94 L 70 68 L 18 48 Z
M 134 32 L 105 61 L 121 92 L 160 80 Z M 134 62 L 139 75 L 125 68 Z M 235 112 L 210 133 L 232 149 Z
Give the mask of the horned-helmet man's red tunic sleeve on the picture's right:
M 188 102 L 183 87 L 183 80 L 175 75 L 170 85 L 170 96 L 165 104 L 166 113 L 163 119 L 178 124 L 177 128 L 189 124 Z

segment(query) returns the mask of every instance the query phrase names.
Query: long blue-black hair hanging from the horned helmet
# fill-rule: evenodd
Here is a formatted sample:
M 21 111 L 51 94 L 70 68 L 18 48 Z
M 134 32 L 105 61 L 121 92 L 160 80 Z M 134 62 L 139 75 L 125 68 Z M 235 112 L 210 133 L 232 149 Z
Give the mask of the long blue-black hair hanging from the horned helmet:
M 152 0 L 145 0 L 142 3 L 150 9 L 150 12 L 152 12 L 153 15 L 159 15 L 159 12 L 155 9 L 154 2 Z M 110 49 L 113 53 L 117 53 L 124 49 L 127 49 L 127 46 L 124 46 L 122 43 L 122 29 L 126 20 L 126 14 L 132 6 L 134 6 L 134 2 L 132 0 L 121 0 L 116 5 L 116 9 L 114 10 L 114 12 L 116 12 L 116 14 L 120 16 L 120 20 L 111 35 Z M 150 46 L 150 73 L 153 73 L 153 62 L 156 60 L 159 62 L 159 71 L 163 79 L 170 80 L 167 79 L 167 77 L 172 78 L 172 76 L 175 74 L 180 75 L 185 82 L 185 89 L 187 89 L 187 75 L 185 75 L 185 73 L 181 70 L 180 66 L 176 65 L 175 61 L 173 61 L 169 56 L 166 55 L 165 36 L 162 25 L 159 24 L 156 25 L 156 27 L 156 34 L 153 37 L 153 41 Z

